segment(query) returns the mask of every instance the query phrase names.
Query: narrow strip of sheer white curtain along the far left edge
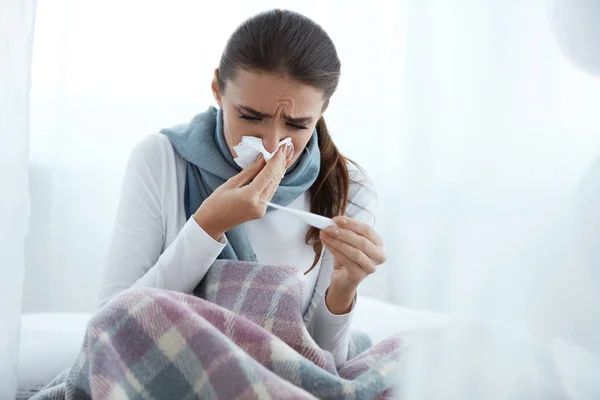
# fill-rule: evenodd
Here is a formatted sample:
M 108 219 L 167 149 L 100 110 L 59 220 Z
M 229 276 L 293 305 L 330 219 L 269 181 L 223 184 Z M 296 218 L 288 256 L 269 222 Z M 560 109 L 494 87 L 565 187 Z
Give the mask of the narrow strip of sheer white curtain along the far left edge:
M 17 387 L 25 235 L 34 0 L 0 0 L 0 398 Z

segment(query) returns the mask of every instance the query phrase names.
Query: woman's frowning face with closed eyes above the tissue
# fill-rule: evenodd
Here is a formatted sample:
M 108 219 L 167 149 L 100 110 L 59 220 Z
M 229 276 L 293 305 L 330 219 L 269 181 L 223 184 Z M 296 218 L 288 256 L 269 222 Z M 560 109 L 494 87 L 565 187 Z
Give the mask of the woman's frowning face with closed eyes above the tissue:
M 271 153 L 290 137 L 295 152 L 289 167 L 302 154 L 324 111 L 321 90 L 283 76 L 241 70 L 226 83 L 224 93 L 216 79 L 212 89 L 223 110 L 225 139 L 234 157 L 233 146 L 242 136 L 262 139 Z

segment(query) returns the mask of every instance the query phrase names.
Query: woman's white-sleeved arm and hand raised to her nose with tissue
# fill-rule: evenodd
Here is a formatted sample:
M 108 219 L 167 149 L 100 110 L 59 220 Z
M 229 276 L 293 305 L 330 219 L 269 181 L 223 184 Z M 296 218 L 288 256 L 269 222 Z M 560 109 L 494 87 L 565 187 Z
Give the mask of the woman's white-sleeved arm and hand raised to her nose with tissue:
M 178 193 L 184 183 L 178 186 L 169 139 L 161 134 L 144 138 L 134 149 L 123 180 L 100 305 L 130 287 L 193 291 L 226 246 L 224 232 L 264 215 L 267 206 L 261 200 L 275 194 L 289 151 L 289 146 L 282 146 L 269 162 L 257 158 L 217 188 L 164 249 L 166 227 L 179 228 L 173 220 L 183 207 Z

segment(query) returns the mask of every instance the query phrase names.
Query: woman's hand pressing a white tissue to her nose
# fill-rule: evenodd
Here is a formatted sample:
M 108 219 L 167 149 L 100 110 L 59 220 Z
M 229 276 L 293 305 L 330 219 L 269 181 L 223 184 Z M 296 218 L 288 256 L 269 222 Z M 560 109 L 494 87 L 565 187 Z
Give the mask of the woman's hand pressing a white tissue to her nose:
M 246 169 L 219 186 L 194 213 L 194 219 L 213 239 L 244 222 L 262 218 L 283 178 L 292 151 L 281 146 L 265 163 L 262 154 Z

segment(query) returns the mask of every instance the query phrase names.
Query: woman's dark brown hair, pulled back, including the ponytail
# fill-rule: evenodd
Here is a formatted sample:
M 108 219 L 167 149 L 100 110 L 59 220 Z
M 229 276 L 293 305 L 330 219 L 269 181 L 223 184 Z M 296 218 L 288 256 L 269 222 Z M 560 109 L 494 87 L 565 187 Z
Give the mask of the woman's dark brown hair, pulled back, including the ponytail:
M 239 70 L 273 73 L 305 83 L 322 90 L 327 105 L 338 86 L 341 62 L 321 26 L 292 11 L 271 10 L 246 20 L 229 38 L 218 69 L 221 91 Z M 344 214 L 348 206 L 348 160 L 333 143 L 323 118 L 316 129 L 321 170 L 310 188 L 310 209 L 331 218 Z M 315 250 L 308 273 L 323 250 L 318 229 L 308 231 L 306 243 Z

